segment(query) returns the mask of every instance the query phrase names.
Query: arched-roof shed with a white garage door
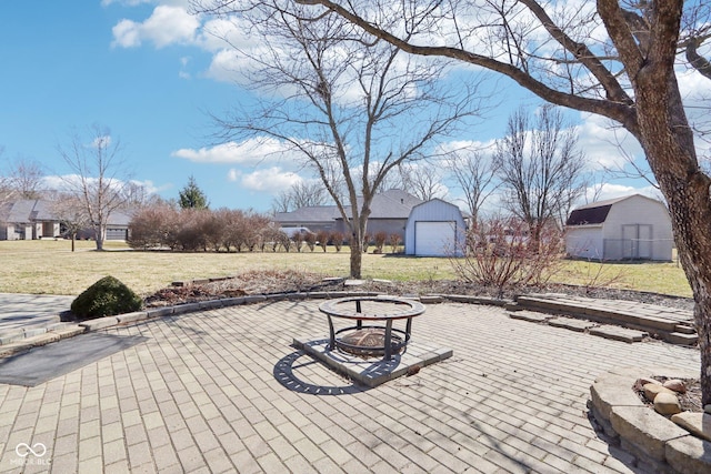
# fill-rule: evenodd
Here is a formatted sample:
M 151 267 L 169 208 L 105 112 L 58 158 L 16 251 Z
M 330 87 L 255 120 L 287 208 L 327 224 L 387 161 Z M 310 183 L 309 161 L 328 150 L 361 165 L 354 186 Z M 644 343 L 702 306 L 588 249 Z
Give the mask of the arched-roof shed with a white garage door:
M 419 256 L 462 255 L 467 232 L 458 206 L 441 199 L 415 205 L 404 230 L 404 253 Z

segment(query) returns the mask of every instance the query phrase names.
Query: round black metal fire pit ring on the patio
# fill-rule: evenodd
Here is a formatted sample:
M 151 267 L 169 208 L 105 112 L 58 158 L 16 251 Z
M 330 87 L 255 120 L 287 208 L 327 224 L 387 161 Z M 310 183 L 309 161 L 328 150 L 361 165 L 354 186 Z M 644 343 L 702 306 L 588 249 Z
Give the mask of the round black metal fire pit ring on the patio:
M 368 313 L 362 311 L 363 302 L 390 303 L 407 307 L 397 312 Z M 348 303 L 354 303 L 354 307 L 351 306 L 353 307 L 352 310 L 347 309 L 344 305 Z M 347 296 L 322 303 L 319 306 L 319 311 L 328 316 L 329 349 L 331 351 L 338 347 L 357 355 L 383 354 L 383 359 L 389 361 L 393 352 L 397 353 L 410 342 L 412 317 L 424 313 L 424 305 L 419 301 L 395 296 Z M 336 331 L 333 317 L 353 320 L 356 325 Z M 395 320 L 407 320 L 404 331 L 392 327 L 392 322 Z M 369 324 L 363 325 L 363 321 L 368 321 Z M 381 324 L 378 324 L 378 322 Z M 339 337 L 339 335 L 341 336 Z M 367 339 L 370 335 L 381 335 L 383 345 L 357 343 L 359 339 Z

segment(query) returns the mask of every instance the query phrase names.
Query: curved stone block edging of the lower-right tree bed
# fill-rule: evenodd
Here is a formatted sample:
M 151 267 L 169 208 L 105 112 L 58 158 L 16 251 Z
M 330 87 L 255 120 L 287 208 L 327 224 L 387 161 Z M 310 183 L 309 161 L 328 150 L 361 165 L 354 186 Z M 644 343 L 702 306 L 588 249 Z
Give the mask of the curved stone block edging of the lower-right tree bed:
M 711 442 L 693 436 L 644 405 L 632 390 L 641 377 L 697 379 L 674 367 L 620 367 L 599 375 L 590 386 L 590 407 L 607 435 L 632 453 L 640 467 L 660 473 L 711 472 Z

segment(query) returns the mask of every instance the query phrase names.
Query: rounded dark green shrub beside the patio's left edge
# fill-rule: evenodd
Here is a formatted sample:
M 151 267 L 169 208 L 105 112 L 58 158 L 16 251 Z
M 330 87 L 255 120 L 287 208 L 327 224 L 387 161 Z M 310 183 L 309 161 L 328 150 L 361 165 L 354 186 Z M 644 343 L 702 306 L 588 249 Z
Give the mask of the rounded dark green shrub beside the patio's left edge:
M 130 313 L 143 306 L 143 300 L 113 276 L 104 276 L 83 291 L 71 303 L 71 312 L 90 320 Z

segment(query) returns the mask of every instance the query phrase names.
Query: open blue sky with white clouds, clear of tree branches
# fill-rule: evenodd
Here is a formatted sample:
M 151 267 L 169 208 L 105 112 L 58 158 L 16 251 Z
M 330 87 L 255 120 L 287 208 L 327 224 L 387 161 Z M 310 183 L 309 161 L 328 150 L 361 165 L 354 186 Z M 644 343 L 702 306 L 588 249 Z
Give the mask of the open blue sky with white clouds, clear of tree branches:
M 216 147 L 207 112 L 249 107 L 253 97 L 221 68 L 223 43 L 206 33 L 204 18 L 187 13 L 187 0 L 77 0 L 6 2 L 0 16 L 1 160 L 37 160 L 48 177 L 69 172 L 58 145 L 74 130 L 107 127 L 123 145 L 132 178 L 166 199 L 194 175 L 212 208 L 267 211 L 273 195 L 299 179 L 298 169 L 239 158 Z M 242 40 L 249 39 L 242 37 Z M 688 88 L 707 89 L 690 75 Z M 510 87 L 485 124 L 461 140 L 501 138 L 519 102 L 535 103 Z M 599 118 L 571 112 L 594 167 L 619 160 L 612 132 Z M 628 143 L 632 143 L 628 140 Z M 629 152 L 639 155 L 639 147 Z M 643 181 L 609 181 L 602 198 L 651 193 Z M 457 190 L 448 196 L 457 201 Z

